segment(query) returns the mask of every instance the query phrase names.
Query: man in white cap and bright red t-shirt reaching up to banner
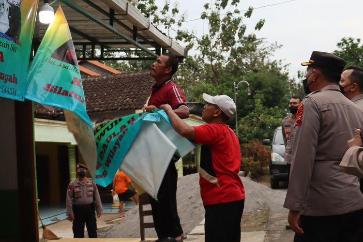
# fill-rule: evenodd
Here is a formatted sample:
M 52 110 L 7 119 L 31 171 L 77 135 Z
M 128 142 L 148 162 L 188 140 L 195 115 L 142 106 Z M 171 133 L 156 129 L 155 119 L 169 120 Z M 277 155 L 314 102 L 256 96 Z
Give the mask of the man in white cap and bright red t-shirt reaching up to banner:
M 202 144 L 200 155 L 200 196 L 205 209 L 206 242 L 239 242 L 244 208 L 244 187 L 238 176 L 241 165 L 240 143 L 226 122 L 236 111 L 227 95 L 203 93 L 208 103 L 202 119 L 207 124 L 189 126 L 169 105 L 162 105 L 181 136 Z

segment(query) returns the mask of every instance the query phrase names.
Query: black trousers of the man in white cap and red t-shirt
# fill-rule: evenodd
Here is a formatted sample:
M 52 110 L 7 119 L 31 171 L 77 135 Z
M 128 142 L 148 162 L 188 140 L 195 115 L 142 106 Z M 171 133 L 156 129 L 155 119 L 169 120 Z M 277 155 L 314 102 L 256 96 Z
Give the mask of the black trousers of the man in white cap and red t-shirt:
M 244 199 L 204 206 L 205 242 L 240 242 Z

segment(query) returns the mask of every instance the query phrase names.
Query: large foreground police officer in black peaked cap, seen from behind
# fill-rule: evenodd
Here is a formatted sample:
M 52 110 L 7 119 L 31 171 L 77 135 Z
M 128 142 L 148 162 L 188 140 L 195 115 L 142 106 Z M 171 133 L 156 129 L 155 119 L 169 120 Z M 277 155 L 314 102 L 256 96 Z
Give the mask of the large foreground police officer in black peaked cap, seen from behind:
M 347 140 L 363 126 L 363 113 L 340 92 L 346 61 L 314 51 L 298 107 L 291 176 L 284 207 L 294 242 L 359 242 L 363 194 L 356 176 L 339 168 Z

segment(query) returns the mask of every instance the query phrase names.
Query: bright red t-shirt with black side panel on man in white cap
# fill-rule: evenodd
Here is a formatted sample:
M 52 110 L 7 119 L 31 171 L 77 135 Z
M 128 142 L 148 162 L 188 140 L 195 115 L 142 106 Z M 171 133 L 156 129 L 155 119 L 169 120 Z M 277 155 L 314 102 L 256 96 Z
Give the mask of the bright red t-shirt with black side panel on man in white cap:
M 241 166 L 240 143 L 226 124 L 194 126 L 195 143 L 203 144 L 200 154 L 199 184 L 203 205 L 244 199 L 238 175 Z

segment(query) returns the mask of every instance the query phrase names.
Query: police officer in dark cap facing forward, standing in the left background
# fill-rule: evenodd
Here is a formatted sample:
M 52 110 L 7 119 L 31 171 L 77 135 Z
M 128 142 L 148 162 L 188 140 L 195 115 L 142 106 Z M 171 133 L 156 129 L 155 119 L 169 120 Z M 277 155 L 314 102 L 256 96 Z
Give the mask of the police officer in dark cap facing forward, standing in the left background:
M 97 218 L 103 210 L 97 185 L 91 178 L 87 178 L 87 166 L 77 164 L 77 179 L 71 181 L 67 190 L 67 215 L 73 222 L 74 238 L 84 238 L 84 224 L 86 223 L 88 237 L 97 238 Z

